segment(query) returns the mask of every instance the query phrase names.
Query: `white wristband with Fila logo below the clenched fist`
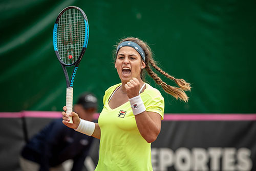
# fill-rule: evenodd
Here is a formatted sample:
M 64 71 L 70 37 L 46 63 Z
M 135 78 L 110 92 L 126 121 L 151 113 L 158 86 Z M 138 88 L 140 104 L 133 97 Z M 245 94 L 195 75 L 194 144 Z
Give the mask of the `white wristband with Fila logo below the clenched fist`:
M 146 110 L 140 95 L 129 99 L 129 101 L 134 115 L 140 114 Z

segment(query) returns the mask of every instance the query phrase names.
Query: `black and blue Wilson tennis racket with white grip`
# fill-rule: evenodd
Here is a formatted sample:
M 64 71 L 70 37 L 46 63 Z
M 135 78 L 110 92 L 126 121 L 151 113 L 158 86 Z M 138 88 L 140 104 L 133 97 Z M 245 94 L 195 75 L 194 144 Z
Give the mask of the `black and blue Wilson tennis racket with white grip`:
M 87 48 L 89 25 L 86 14 L 78 7 L 63 9 L 54 24 L 53 46 L 67 82 L 66 113 L 73 111 L 73 84 L 78 65 Z M 74 66 L 69 79 L 67 66 Z M 70 124 L 73 123 L 70 117 Z

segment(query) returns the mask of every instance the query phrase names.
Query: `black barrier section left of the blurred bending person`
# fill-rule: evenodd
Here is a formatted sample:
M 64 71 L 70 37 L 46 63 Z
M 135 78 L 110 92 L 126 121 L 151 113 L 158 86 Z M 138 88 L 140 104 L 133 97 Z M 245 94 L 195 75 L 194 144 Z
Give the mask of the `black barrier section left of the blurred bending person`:
M 13 114 L 14 115 L 14 114 Z M 0 171 L 19 171 L 19 154 L 26 141 L 44 128 L 53 118 L 24 117 L 0 114 Z

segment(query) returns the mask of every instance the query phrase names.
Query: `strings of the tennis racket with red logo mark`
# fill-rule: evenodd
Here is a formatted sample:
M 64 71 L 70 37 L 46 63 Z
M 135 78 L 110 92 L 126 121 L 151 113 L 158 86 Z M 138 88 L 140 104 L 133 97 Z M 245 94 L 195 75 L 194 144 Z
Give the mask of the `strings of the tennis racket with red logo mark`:
M 59 18 L 57 46 L 63 63 L 71 65 L 79 58 L 86 34 L 85 27 L 83 15 L 77 9 L 69 9 Z

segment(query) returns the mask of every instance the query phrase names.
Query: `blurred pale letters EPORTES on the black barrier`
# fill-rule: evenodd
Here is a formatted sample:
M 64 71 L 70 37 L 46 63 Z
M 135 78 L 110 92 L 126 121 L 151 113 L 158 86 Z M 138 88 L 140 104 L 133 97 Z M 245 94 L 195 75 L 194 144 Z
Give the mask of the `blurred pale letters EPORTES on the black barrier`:
M 246 170 L 252 168 L 251 150 L 247 148 L 152 148 L 153 170 L 167 171 L 216 171 Z

